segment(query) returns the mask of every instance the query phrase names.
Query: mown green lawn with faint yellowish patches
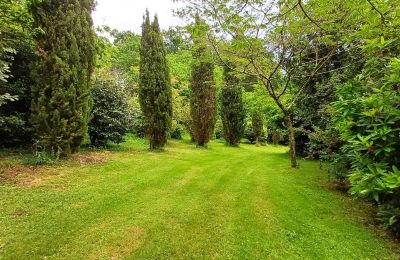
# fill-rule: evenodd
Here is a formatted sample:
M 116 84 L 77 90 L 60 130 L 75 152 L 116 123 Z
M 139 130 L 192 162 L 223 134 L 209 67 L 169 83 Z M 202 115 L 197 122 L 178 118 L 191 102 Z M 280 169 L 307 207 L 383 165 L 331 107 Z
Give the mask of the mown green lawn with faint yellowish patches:
M 290 169 L 286 149 L 130 139 L 30 170 L 0 184 L 0 259 L 400 257 L 365 203 L 329 189 L 318 162 Z

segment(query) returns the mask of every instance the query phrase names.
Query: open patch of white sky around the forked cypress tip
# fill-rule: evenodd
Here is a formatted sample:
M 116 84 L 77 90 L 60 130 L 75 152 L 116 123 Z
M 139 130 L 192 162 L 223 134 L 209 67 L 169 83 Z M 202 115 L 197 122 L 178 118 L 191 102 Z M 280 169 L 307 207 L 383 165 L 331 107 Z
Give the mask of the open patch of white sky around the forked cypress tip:
M 157 13 L 161 29 L 168 29 L 182 24 L 172 13 L 178 6 L 172 0 L 97 0 L 93 21 L 96 26 L 109 25 L 113 29 L 140 33 L 147 8 L 151 16 Z

